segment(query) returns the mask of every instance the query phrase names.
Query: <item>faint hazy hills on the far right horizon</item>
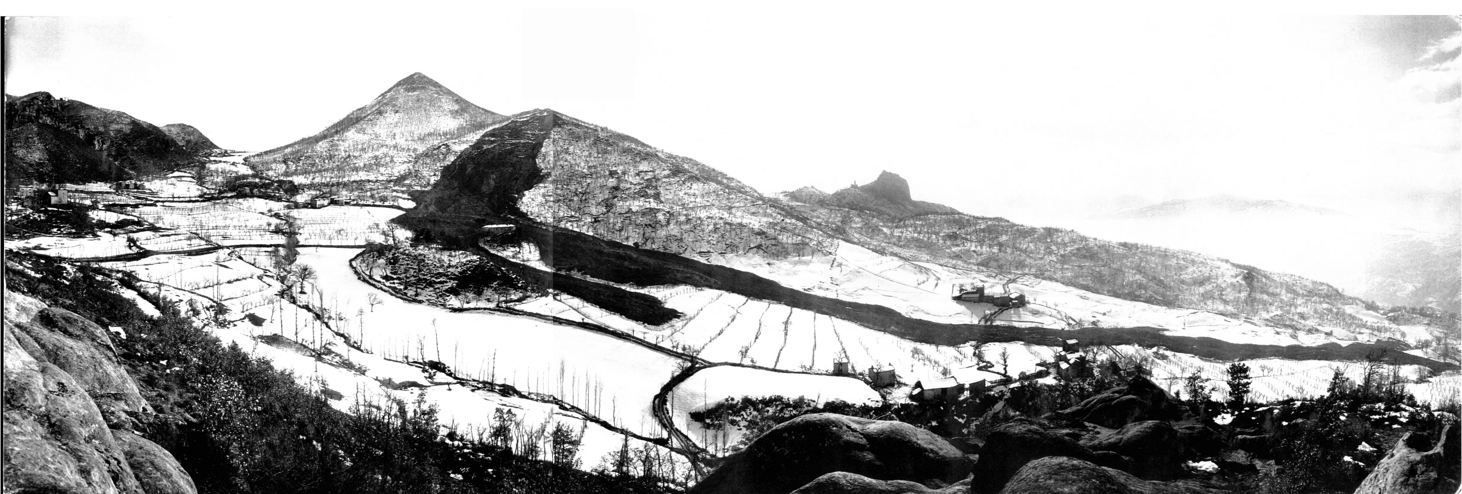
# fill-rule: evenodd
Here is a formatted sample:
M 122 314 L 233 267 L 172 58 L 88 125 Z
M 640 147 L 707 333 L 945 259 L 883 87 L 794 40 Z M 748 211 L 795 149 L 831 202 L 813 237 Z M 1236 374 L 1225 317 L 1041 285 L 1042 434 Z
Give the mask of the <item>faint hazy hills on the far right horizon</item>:
M 1285 200 L 1211 196 L 1096 215 L 1083 234 L 1199 251 L 1325 281 L 1390 305 L 1456 311 L 1459 278 L 1446 234 L 1376 224 Z M 1455 232 L 1452 234 L 1455 237 Z M 1455 248 L 1453 248 L 1455 250 Z

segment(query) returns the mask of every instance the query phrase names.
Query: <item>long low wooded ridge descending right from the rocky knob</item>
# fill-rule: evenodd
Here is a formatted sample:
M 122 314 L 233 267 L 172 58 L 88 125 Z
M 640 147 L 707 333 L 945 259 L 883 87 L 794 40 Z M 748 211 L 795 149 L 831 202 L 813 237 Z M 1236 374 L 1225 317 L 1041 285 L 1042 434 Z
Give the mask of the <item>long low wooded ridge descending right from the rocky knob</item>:
M 851 241 L 909 260 L 993 269 L 1010 281 L 1032 276 L 1155 305 L 1269 319 L 1278 326 L 1289 326 L 1288 317 L 1310 324 L 1364 326 L 1339 310 L 1361 301 L 1327 284 L 1213 256 L 1105 241 L 928 203 L 914 209 L 909 205 L 918 202 L 892 202 L 861 187 L 826 197 L 803 189 L 784 197 L 804 216 L 838 225 Z

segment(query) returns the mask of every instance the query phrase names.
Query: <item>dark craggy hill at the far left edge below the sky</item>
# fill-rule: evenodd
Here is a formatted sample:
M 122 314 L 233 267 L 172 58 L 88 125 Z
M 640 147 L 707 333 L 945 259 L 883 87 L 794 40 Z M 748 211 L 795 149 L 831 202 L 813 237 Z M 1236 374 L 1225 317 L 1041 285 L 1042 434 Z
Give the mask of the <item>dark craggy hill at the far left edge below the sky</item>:
M 197 164 L 168 133 L 132 115 L 32 92 L 6 98 L 6 183 L 85 183 Z

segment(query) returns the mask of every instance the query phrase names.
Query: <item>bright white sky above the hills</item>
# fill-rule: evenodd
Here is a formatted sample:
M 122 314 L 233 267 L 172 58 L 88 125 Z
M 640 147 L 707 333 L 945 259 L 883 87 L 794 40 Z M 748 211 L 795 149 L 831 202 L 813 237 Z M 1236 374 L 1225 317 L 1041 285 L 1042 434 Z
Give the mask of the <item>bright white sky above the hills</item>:
M 1431 218 L 1427 197 L 1456 208 L 1462 190 L 1449 18 L 477 7 L 19 18 L 6 35 L 7 94 L 187 123 L 244 151 L 423 72 L 484 108 L 554 108 L 763 193 L 889 170 L 915 199 L 1061 225 L 1123 197 L 1219 193 Z

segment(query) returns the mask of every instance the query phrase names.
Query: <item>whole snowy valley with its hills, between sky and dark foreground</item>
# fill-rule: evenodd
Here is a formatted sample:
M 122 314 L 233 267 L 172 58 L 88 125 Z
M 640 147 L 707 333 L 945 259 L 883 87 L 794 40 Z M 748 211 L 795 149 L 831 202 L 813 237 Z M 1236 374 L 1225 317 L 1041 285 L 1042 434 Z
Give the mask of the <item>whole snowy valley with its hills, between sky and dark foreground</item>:
M 80 102 L 35 94 L 7 107 L 34 118 L 23 132 L 104 139 L 77 120 L 95 114 Z M 1455 403 L 1462 386 L 1455 314 L 961 213 L 914 200 L 892 172 L 766 196 L 553 110 L 482 110 L 421 73 L 260 153 L 187 126 L 133 126 L 177 142 L 146 159 L 136 149 L 151 148 L 88 148 L 67 161 L 77 170 L 7 161 L 12 197 L 31 194 L 7 203 L 7 276 L 98 269 L 136 310 L 178 310 L 338 412 L 415 402 L 453 437 L 582 471 L 623 471 L 635 449 L 686 487 L 746 447 L 750 425 L 694 418 L 721 403 L 893 414 L 934 409 L 921 396 L 942 381 L 1004 393 L 966 392 L 1001 405 L 924 424 L 953 427 L 993 417 L 1013 389 L 1069 381 L 1075 362 L 1174 396 L 1202 383 L 1215 400 L 1234 393 L 1237 364 L 1253 370 L 1253 402 L 1316 399 L 1377 365 L 1418 406 Z M 15 155 L 70 139 L 23 140 Z M 966 286 L 1029 304 L 952 300 Z M 560 430 L 579 431 L 575 450 L 554 453 Z

